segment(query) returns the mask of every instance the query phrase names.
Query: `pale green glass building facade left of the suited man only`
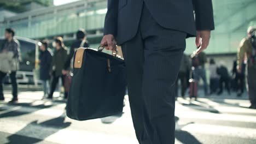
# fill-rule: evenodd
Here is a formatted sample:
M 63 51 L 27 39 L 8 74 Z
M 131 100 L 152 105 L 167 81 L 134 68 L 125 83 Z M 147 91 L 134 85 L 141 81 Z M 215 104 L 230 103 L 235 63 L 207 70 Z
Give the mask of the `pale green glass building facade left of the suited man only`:
M 3 33 L 5 27 L 12 27 L 20 37 L 38 39 L 72 34 L 78 28 L 97 30 L 103 28 L 106 11 L 106 2 L 95 4 L 87 1 L 43 8 L 6 19 L 0 32 Z

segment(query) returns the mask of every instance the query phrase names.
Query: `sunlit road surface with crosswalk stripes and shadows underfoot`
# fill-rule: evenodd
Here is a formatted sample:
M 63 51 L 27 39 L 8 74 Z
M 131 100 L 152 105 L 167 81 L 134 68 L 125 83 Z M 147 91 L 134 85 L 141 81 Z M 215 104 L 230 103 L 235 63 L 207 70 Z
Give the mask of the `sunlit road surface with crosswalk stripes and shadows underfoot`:
M 128 98 L 123 115 L 73 121 L 65 101 L 41 100 L 42 92 L 19 94 L 19 103 L 0 102 L 0 143 L 137 144 Z M 225 94 L 224 94 L 225 95 Z M 256 143 L 256 110 L 247 109 L 246 96 L 213 96 L 198 101 L 178 98 L 176 143 Z

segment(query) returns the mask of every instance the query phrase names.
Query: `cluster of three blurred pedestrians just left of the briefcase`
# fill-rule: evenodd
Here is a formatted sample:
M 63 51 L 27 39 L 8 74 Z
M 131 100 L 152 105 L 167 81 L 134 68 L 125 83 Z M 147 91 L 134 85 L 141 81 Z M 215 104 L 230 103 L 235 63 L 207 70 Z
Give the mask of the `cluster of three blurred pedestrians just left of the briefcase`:
M 64 98 L 67 99 L 72 74 L 72 58 L 75 50 L 79 47 L 89 47 L 86 41 L 86 32 L 84 29 L 79 29 L 76 34 L 77 40 L 71 45 L 69 51 L 63 43 L 61 37 L 54 39 L 53 54 L 48 49 L 48 41 L 43 40 L 40 46 L 40 80 L 43 82 L 44 97 L 53 99 L 57 83 L 62 81 L 64 88 Z M 49 84 L 51 80 L 51 85 Z

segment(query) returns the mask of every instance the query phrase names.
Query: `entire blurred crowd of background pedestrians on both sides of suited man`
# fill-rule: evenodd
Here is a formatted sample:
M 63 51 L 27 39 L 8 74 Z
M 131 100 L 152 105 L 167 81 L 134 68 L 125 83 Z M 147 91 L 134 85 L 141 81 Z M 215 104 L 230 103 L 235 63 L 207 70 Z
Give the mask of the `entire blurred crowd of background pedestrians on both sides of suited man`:
M 231 71 L 228 70 L 224 61 L 219 61 L 216 64 L 214 58 L 210 58 L 208 63 L 205 52 L 201 52 L 199 55 L 184 55 L 178 79 L 176 80 L 176 98 L 179 95 L 179 80 L 181 81 L 181 97 L 183 98 L 188 87 L 191 86 L 191 80 L 197 83 L 202 80 L 205 96 L 210 96 L 214 93 L 220 95 L 225 87 L 229 95 L 233 89 L 237 97 L 241 97 L 245 92 L 245 87 L 247 87 L 249 100 L 252 104 L 250 108 L 256 109 L 256 28 L 249 27 L 247 33 L 248 37 L 241 41 L 237 58 Z M 14 35 L 14 29 L 5 29 L 5 40 L 0 45 L 0 100 L 4 100 L 2 83 L 4 77 L 9 74 L 13 87 L 13 99 L 10 103 L 18 101 L 16 71 L 19 70 L 20 44 L 18 40 L 14 39 Z M 70 49 L 67 49 L 61 37 L 56 37 L 53 42 L 54 52 L 48 48 L 48 40 L 41 41 L 39 65 L 44 98 L 53 99 L 53 94 L 60 79 L 65 89 L 64 98 L 68 97 L 74 52 L 79 47 L 89 47 L 84 29 L 79 29 L 76 37 L 77 40 Z M 206 68 L 207 63 L 209 65 Z M 210 80 L 208 80 L 210 85 L 207 83 L 206 70 L 210 71 Z

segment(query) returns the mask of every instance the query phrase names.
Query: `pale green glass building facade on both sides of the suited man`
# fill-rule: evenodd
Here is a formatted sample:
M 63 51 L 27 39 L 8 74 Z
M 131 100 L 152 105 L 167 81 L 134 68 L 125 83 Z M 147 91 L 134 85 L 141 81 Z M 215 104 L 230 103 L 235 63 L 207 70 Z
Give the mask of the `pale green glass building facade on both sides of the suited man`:
M 213 0 L 216 31 L 212 32 L 211 44 L 207 53 L 235 53 L 242 38 L 246 37 L 247 27 L 255 25 L 255 0 Z M 92 44 L 100 43 L 104 17 L 107 12 L 106 0 L 78 1 L 28 11 L 0 22 L 0 32 L 13 27 L 20 37 L 31 39 L 53 38 L 61 35 L 72 38 L 84 28 L 89 37 L 97 38 Z M 187 53 L 195 50 L 194 38 L 187 40 Z

